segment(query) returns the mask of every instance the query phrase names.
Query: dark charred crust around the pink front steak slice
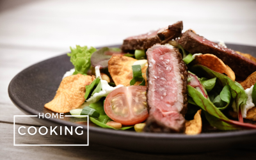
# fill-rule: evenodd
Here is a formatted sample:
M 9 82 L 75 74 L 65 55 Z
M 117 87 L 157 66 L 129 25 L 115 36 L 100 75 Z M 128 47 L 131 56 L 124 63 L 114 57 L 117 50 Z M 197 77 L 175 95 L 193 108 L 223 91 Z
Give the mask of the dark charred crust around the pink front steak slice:
M 156 45 L 159 45 L 159 44 L 156 44 Z M 161 45 L 161 46 L 163 46 L 163 45 Z M 148 49 L 148 50 L 150 50 L 150 49 Z M 175 52 L 175 57 L 177 58 L 177 62 L 179 64 L 179 72 L 180 72 L 180 77 L 181 77 L 181 81 L 182 81 L 182 92 L 181 93 L 182 93 L 182 97 L 183 97 L 183 103 L 182 103 L 183 106 L 182 106 L 182 109 L 179 113 L 180 116 L 176 117 L 176 118 L 173 118 L 173 120 L 180 121 L 180 127 L 179 127 L 179 129 L 173 129 L 172 127 L 166 126 L 166 124 L 164 124 L 163 122 L 161 122 L 159 120 L 156 120 L 156 118 L 154 116 L 152 116 L 152 114 L 150 113 L 150 109 L 152 108 L 152 107 L 150 107 L 150 103 L 147 103 L 148 104 L 149 116 L 148 116 L 147 121 L 146 121 L 146 126 L 144 127 L 145 132 L 184 132 L 184 130 L 185 130 L 184 116 L 186 114 L 187 107 L 188 107 L 188 98 L 187 98 L 187 96 L 188 96 L 187 95 L 188 72 L 187 72 L 187 67 L 186 67 L 185 63 L 182 60 L 182 55 L 180 54 L 179 49 L 173 49 L 173 50 Z M 150 65 L 149 60 L 148 60 L 148 65 Z M 147 81 L 150 81 L 150 77 L 149 77 L 150 73 L 149 72 L 150 72 L 150 69 L 148 70 L 148 79 L 147 79 Z M 148 92 L 150 92 L 148 90 L 150 88 L 149 86 L 150 86 L 150 83 L 148 82 L 147 100 L 152 99 L 151 95 L 148 94 Z

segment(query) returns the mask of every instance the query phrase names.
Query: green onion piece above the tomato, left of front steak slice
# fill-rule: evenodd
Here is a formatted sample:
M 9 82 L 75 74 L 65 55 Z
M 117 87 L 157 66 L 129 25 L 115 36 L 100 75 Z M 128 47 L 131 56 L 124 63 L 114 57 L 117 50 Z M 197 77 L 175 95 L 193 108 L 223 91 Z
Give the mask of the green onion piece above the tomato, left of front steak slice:
M 141 66 L 140 65 L 132 65 L 132 80 L 130 81 L 130 85 L 134 85 L 137 81 L 141 81 L 139 86 L 145 86 L 145 79 L 141 74 Z

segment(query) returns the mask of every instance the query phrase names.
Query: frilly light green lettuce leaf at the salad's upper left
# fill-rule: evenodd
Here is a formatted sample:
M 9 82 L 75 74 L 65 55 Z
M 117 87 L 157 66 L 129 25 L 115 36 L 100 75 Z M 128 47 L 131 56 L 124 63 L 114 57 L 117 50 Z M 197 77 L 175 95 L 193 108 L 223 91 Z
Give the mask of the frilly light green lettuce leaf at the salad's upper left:
M 81 47 L 80 45 L 76 45 L 76 48 L 70 47 L 70 49 L 71 52 L 67 55 L 70 56 L 70 61 L 75 67 L 73 75 L 86 75 L 91 67 L 91 56 L 97 49 L 94 47 L 90 47 L 90 49 L 88 49 L 87 46 Z

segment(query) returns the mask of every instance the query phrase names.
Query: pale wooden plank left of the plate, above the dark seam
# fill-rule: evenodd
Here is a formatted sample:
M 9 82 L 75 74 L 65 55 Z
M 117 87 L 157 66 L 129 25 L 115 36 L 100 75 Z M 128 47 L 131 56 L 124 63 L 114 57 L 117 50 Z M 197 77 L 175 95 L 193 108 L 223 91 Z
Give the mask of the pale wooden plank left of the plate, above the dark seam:
M 13 115 L 24 115 L 8 96 L 8 84 L 12 78 L 18 74 L 21 70 L 30 65 L 33 65 L 39 61 L 46 60 L 53 56 L 58 56 L 63 51 L 49 51 L 45 49 L 8 49 L 0 48 L 0 122 L 13 123 Z M 17 117 L 16 122 L 19 124 L 41 125 L 32 118 L 29 117 Z

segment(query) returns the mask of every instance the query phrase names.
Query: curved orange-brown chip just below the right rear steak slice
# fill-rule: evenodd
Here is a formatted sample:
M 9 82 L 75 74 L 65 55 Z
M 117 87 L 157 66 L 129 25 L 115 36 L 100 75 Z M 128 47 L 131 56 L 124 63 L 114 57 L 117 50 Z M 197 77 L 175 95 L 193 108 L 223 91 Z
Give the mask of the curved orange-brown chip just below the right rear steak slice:
M 205 67 L 214 70 L 215 72 L 219 72 L 221 74 L 227 74 L 232 81 L 235 81 L 236 76 L 231 68 L 229 68 L 223 61 L 221 61 L 218 57 L 213 54 L 202 54 L 200 56 L 195 56 L 195 60 L 193 61 L 196 65 L 204 65 Z

